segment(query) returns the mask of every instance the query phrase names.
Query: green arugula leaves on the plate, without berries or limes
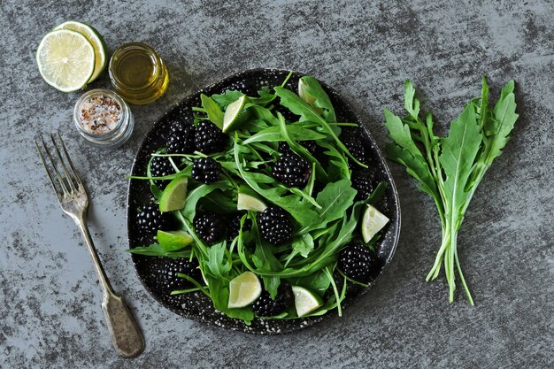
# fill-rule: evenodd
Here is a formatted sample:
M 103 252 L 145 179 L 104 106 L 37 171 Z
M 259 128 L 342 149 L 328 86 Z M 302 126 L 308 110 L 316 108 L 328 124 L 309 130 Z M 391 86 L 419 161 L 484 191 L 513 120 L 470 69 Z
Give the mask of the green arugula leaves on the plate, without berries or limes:
M 291 73 L 292 74 L 292 73 Z M 358 219 L 364 204 L 373 204 L 383 195 L 387 184 L 379 183 L 372 194 L 361 201 L 354 201 L 356 189 L 350 183 L 350 165 L 361 165 L 339 139 L 341 127 L 356 127 L 353 123 L 338 123 L 335 110 L 327 93 L 319 82 L 309 76 L 302 81 L 306 91 L 313 96 L 312 103 L 305 102 L 295 92 L 285 88 L 291 74 L 275 88 L 264 87 L 258 96 L 248 97 L 244 106 L 248 120 L 242 127 L 228 137 L 227 149 L 209 155 L 222 167 L 220 181 L 212 184 L 201 184 L 192 180 L 191 167 L 195 158 L 206 157 L 201 152 L 191 155 L 165 154 L 160 148 L 154 157 L 165 157 L 171 161 L 175 173 L 164 177 L 150 175 L 150 163 L 147 176 L 130 178 L 150 180 L 150 189 L 155 198 L 162 191 L 154 180 L 171 180 L 189 177 L 189 194 L 186 204 L 173 215 L 181 223 L 181 229 L 187 231 L 194 242 L 181 250 L 167 250 L 158 243 L 149 246 L 135 247 L 129 252 L 170 258 L 196 258 L 202 271 L 205 285 L 191 279 L 188 275 L 179 274 L 195 288 L 173 291 L 173 294 L 201 291 L 212 299 L 213 306 L 227 316 L 242 319 L 245 323 L 255 318 L 250 306 L 229 309 L 229 281 L 237 275 L 250 270 L 263 281 L 266 291 L 272 298 L 277 295 L 281 281 L 290 285 L 310 289 L 319 296 L 327 298 L 325 304 L 311 316 L 325 314 L 337 309 L 342 313 L 341 303 L 346 295 L 347 277 L 342 288 L 337 288 L 333 276 L 336 259 L 342 248 L 349 242 L 363 243 L 358 236 Z M 238 90 L 227 90 L 224 94 L 201 96 L 202 106 L 195 111 L 195 124 L 210 120 L 217 127 L 223 127 L 224 111 L 244 94 Z M 278 99 L 283 108 L 296 116 L 296 121 L 287 121 L 277 111 L 274 102 Z M 290 115 L 290 114 L 288 114 Z M 323 153 L 322 158 L 315 158 L 298 142 L 313 140 Z M 311 178 L 305 188 L 288 188 L 270 175 L 271 165 L 278 158 L 279 142 L 287 142 L 291 150 L 312 165 Z M 315 196 L 314 188 L 322 188 Z M 224 240 L 211 246 L 201 240 L 192 226 L 198 210 L 212 210 L 219 213 L 236 211 L 238 193 L 258 196 L 265 204 L 276 204 L 289 212 L 294 220 L 295 232 L 293 241 L 282 246 L 273 246 L 260 236 L 256 212 L 248 211 L 242 217 L 252 221 L 249 232 L 239 232 L 232 240 Z M 315 197 L 314 197 L 315 196 Z M 367 243 L 373 248 L 379 234 Z M 350 281 L 350 280 L 349 280 Z M 355 281 L 350 281 L 355 282 Z M 356 282 L 358 283 L 358 282 Z M 331 294 L 328 294 L 331 292 Z M 272 319 L 296 319 L 296 311 L 291 307 Z

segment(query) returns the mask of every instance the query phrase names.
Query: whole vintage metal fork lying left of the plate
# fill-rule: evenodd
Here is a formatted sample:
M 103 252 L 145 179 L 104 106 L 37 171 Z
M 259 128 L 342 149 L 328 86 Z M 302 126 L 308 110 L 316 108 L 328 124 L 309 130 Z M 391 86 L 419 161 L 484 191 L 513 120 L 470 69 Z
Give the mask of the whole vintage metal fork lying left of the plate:
M 57 140 L 53 134 L 50 134 L 50 139 L 54 147 L 55 156 L 58 159 L 58 165 L 53 156 L 50 155 L 50 150 L 48 150 L 42 137 L 40 138 L 40 142 L 35 140 L 36 150 L 41 157 L 42 165 L 44 165 L 44 169 L 48 174 L 48 178 L 58 197 L 62 210 L 73 218 L 77 227 L 81 230 L 83 239 L 88 246 L 88 251 L 94 262 L 96 273 L 98 273 L 98 279 L 104 289 L 102 310 L 104 311 L 106 323 L 110 335 L 112 336 L 113 346 L 122 357 L 136 357 L 140 355 L 144 349 L 144 337 L 131 311 L 129 311 L 127 304 L 125 304 L 123 299 L 117 296 L 113 291 L 112 285 L 104 272 L 104 267 L 100 263 L 92 238 L 90 237 L 90 233 L 88 233 L 87 192 L 81 182 L 81 178 L 79 178 L 79 175 L 73 168 L 73 163 L 67 154 L 65 144 L 62 141 L 61 135 L 59 135 L 59 131 L 57 135 L 59 144 L 56 142 Z M 40 144 L 42 144 L 42 150 Z M 46 155 L 43 155 L 42 151 L 44 151 Z M 49 159 L 50 168 L 44 157 Z M 58 167 L 61 167 L 61 173 L 58 171 Z

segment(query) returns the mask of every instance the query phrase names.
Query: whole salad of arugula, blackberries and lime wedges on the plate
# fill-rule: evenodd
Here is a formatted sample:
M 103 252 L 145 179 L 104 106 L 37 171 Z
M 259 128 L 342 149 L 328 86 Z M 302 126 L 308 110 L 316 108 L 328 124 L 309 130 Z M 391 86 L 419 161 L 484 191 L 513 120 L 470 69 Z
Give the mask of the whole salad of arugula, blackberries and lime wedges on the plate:
M 136 209 L 143 244 L 172 258 L 171 294 L 204 293 L 246 324 L 335 310 L 381 270 L 374 245 L 389 219 L 373 205 L 387 188 L 357 124 L 337 122 L 316 79 L 201 95 L 170 122 L 144 176 L 151 204 Z

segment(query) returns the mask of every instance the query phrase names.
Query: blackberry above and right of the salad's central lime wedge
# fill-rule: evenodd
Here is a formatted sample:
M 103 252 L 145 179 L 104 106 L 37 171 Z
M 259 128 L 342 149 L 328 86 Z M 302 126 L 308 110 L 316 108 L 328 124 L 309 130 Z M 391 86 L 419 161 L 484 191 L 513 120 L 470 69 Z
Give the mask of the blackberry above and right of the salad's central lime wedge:
M 304 187 L 310 179 L 312 168 L 305 158 L 290 151 L 282 154 L 273 164 L 273 178 L 288 187 Z

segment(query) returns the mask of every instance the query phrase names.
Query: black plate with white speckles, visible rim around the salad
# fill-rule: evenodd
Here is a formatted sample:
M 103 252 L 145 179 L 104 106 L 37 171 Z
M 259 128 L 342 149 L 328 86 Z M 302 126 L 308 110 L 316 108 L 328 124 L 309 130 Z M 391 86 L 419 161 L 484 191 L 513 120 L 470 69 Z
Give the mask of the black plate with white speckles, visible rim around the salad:
M 227 77 L 222 81 L 214 83 L 184 98 L 181 103 L 165 112 L 154 126 L 150 128 L 150 131 L 142 140 L 141 147 L 133 163 L 133 175 L 145 175 L 150 153 L 165 146 L 165 138 L 169 131 L 168 122 L 175 117 L 184 114 L 192 114 L 190 108 L 193 106 L 200 106 L 201 93 L 210 96 L 212 94 L 223 93 L 227 89 L 240 89 L 247 95 L 256 96 L 256 91 L 262 86 L 269 85 L 273 87 L 281 85 L 288 73 L 289 71 L 279 69 L 253 69 Z M 289 80 L 287 88 L 296 91 L 298 78 L 303 75 L 302 73 L 295 73 Z M 380 204 L 377 205 L 390 219 L 385 233 L 377 244 L 378 257 L 381 261 L 381 270 L 368 288 L 362 289 L 355 296 L 347 297 L 343 304 L 347 306 L 372 288 L 375 282 L 379 280 L 379 277 L 381 277 L 384 269 L 389 265 L 390 259 L 396 249 L 396 243 L 398 242 L 398 234 L 400 231 L 400 207 L 395 183 L 392 180 L 389 168 L 380 150 L 376 147 L 373 138 L 364 127 L 362 120 L 352 111 L 346 100 L 333 88 L 323 83 L 322 86 L 327 90 L 335 106 L 337 120 L 342 122 L 357 122 L 363 127 L 363 132 L 365 133 L 364 140 L 366 149 L 369 151 L 372 159 L 371 166 L 375 181 L 389 182 L 386 196 L 381 200 Z M 143 204 L 149 204 L 151 201 L 152 198 L 148 181 L 130 181 L 127 196 L 127 234 L 129 247 L 142 244 L 141 234 L 136 227 L 136 209 Z M 227 327 L 252 334 L 283 334 L 311 326 L 312 324 L 318 323 L 336 314 L 333 311 L 321 317 L 292 320 L 255 319 L 250 326 L 246 326 L 241 320 L 229 319 L 226 315 L 216 311 L 212 306 L 212 301 L 200 292 L 170 296 L 167 286 L 165 286 L 163 280 L 159 278 L 159 273 L 164 270 L 165 263 L 167 262 L 165 258 L 144 257 L 134 254 L 133 261 L 135 262 L 136 273 L 142 281 L 144 288 L 146 288 L 150 292 L 150 295 L 154 296 L 160 304 L 185 318 L 195 319 L 213 326 Z

